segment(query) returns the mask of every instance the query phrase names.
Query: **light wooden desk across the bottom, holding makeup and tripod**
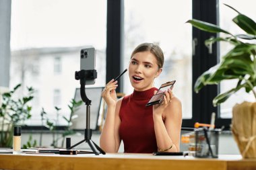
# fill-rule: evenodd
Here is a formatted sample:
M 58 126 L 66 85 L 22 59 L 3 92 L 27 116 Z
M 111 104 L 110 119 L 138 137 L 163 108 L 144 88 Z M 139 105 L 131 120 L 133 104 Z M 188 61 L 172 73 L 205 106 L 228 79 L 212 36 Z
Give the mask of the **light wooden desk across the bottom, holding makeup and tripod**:
M 256 169 L 256 159 L 243 160 L 240 155 L 220 155 L 219 159 L 196 159 L 194 157 L 146 154 L 107 154 L 99 156 L 1 154 L 0 169 Z

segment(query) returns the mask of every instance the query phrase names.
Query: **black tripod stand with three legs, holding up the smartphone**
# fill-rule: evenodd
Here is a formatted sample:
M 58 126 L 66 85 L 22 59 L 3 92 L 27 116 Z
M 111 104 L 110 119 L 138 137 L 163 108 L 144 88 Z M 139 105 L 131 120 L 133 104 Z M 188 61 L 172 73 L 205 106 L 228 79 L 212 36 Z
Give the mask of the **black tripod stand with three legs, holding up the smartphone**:
M 88 99 L 86 96 L 86 79 L 87 80 L 94 80 L 97 78 L 97 72 L 96 70 L 81 70 L 81 71 L 75 71 L 75 79 L 80 80 L 80 95 L 84 103 L 86 103 L 86 129 L 84 130 L 84 140 L 78 142 L 77 144 L 74 144 L 73 146 L 70 146 L 67 149 L 71 149 L 78 144 L 81 144 L 82 142 L 87 142 L 92 149 L 92 153 L 95 155 L 100 155 L 102 153 L 105 155 L 106 153 L 98 146 L 94 141 L 91 140 L 92 137 L 92 129 L 90 129 L 90 105 L 92 101 Z

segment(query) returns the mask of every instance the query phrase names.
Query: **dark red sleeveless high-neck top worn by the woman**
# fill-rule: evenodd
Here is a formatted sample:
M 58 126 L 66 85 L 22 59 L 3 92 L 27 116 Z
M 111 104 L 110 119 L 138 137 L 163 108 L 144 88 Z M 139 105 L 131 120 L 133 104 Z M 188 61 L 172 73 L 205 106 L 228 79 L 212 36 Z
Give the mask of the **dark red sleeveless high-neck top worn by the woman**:
M 154 131 L 152 105 L 146 103 L 154 95 L 155 87 L 146 91 L 133 91 L 123 97 L 119 117 L 119 134 L 125 153 L 153 153 L 158 151 Z

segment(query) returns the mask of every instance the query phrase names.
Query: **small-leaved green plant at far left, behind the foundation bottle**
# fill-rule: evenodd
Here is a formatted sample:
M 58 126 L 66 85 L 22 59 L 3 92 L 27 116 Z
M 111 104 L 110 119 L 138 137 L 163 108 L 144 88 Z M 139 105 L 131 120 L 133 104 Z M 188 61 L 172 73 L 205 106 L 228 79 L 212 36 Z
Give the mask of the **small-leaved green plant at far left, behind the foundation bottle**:
M 12 91 L 1 94 L 0 104 L 0 146 L 11 147 L 13 141 L 13 126 L 24 125 L 31 118 L 32 107 L 28 102 L 33 99 L 34 89 L 27 87 L 28 95 L 16 99 L 14 97 L 21 84 L 16 85 Z

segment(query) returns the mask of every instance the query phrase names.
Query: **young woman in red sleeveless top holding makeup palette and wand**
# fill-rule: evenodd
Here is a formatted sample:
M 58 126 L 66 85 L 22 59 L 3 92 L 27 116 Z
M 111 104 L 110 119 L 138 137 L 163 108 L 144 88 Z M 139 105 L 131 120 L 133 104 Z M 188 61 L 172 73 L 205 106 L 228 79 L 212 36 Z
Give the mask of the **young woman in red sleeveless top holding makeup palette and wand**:
M 168 89 L 161 104 L 145 106 L 157 91 L 153 83 L 162 72 L 163 64 L 164 54 L 158 45 L 140 44 L 129 62 L 133 93 L 117 100 L 117 81 L 113 79 L 106 84 L 102 97 L 108 110 L 100 147 L 107 153 L 117 153 L 121 140 L 125 153 L 179 151 L 181 101 Z

